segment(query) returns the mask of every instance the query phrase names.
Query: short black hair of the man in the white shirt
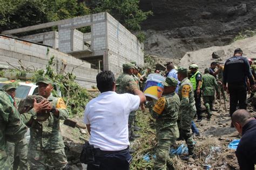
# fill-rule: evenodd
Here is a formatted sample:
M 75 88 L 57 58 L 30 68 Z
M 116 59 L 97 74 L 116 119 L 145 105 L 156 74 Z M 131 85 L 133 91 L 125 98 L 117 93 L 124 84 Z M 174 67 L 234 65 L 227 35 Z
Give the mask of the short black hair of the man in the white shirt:
M 113 91 L 114 74 L 112 71 L 102 71 L 96 77 L 97 87 L 101 93 Z

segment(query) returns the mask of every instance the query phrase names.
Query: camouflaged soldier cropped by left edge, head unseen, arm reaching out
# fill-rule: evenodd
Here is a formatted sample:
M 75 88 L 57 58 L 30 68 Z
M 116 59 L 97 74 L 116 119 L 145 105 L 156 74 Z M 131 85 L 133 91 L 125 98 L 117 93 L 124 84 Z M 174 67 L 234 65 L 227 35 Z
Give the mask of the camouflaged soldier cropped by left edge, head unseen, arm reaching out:
M 19 114 L 14 107 L 9 94 L 0 90 L 0 169 L 12 169 L 6 148 L 6 141 L 18 142 L 24 138 L 27 127 L 36 113 L 41 112 L 49 106 L 48 101 L 33 104 L 33 112 Z

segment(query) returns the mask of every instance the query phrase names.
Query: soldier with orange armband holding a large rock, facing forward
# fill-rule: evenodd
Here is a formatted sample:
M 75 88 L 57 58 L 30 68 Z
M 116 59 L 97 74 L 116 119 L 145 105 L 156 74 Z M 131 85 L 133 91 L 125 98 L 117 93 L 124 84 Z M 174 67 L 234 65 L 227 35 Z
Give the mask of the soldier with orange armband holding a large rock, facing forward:
M 60 133 L 59 121 L 68 118 L 65 102 L 62 98 L 51 96 L 52 81 L 41 77 L 37 80 L 39 96 L 50 101 L 50 112 L 45 121 L 33 121 L 30 125 L 29 165 L 30 169 L 68 169 L 64 152 L 64 142 Z

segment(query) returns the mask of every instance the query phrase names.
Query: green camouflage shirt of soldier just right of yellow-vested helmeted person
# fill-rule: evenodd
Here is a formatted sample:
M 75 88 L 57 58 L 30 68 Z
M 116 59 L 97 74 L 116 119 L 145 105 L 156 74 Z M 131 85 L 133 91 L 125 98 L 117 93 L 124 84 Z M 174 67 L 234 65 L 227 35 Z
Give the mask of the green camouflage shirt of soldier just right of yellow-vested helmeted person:
M 214 96 L 215 91 L 218 91 L 218 84 L 214 76 L 209 73 L 203 75 L 203 84 L 201 90 L 203 91 L 203 96 Z M 214 91 L 215 89 L 215 91 Z

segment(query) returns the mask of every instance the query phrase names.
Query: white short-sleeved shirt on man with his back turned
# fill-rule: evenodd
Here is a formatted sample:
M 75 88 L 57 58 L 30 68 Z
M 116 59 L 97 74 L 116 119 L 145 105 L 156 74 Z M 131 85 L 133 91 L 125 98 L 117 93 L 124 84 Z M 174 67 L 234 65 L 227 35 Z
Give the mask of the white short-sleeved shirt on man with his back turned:
M 139 96 L 104 92 L 85 107 L 84 123 L 91 127 L 89 143 L 102 151 L 120 151 L 130 145 L 128 118 L 139 108 Z

